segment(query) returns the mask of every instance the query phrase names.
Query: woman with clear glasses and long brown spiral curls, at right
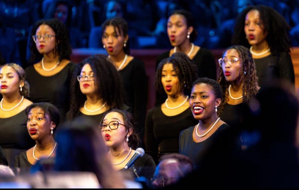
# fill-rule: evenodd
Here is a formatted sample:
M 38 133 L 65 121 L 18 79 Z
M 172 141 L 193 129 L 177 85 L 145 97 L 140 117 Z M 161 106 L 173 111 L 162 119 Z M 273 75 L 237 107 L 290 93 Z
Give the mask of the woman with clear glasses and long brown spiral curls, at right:
M 255 63 L 250 50 L 244 46 L 231 46 L 224 50 L 219 59 L 218 82 L 224 97 L 218 112 L 223 121 L 240 130 L 246 115 L 246 104 L 257 94 Z M 249 143 L 249 138 L 241 135 L 241 145 Z M 246 143 L 246 141 L 248 141 Z

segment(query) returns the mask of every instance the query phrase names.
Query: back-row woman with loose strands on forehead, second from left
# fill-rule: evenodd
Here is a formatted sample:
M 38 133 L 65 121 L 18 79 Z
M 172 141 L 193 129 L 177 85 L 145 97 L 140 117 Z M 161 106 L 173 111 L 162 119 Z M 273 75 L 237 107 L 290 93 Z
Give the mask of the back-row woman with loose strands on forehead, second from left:
M 128 24 L 120 17 L 106 20 L 102 26 L 102 42 L 109 58 L 123 79 L 126 104 L 132 108 L 138 131 L 143 129 L 147 109 L 147 75 L 144 63 L 130 56 Z

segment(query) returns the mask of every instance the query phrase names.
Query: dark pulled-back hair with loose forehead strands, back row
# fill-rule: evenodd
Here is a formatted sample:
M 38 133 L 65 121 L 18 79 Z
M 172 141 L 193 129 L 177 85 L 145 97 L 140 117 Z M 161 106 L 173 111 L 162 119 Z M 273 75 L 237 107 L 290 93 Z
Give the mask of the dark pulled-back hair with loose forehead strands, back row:
M 115 17 L 111 18 L 109 20 L 106 20 L 102 24 L 102 39 L 103 35 L 105 33 L 106 27 L 112 25 L 114 27 L 114 32 L 116 33 L 116 29 L 119 31 L 120 35 L 123 37 L 126 37 L 128 35 L 128 23 L 125 19 L 120 18 L 120 17 Z M 129 43 L 130 38 L 126 41 L 126 47 L 123 47 L 123 51 L 126 54 L 130 54 L 130 43 Z

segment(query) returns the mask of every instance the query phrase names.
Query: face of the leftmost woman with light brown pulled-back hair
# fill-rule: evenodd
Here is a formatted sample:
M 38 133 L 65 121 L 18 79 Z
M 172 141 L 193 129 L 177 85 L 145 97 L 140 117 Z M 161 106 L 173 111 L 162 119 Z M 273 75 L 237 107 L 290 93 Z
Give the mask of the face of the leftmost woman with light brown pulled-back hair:
M 24 86 L 24 81 L 20 81 L 16 70 L 7 65 L 2 67 L 0 69 L 0 93 L 2 95 L 19 93 L 19 86 Z

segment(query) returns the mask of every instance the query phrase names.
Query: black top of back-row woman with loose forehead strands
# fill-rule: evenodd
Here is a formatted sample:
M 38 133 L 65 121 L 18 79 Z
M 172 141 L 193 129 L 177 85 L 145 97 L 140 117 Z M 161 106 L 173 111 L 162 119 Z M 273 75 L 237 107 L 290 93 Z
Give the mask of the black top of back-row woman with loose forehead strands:
M 132 108 L 137 121 L 138 132 L 143 131 L 147 109 L 147 75 L 144 63 L 134 58 L 119 71 L 126 92 L 126 105 Z M 141 138 L 143 139 L 143 134 Z

